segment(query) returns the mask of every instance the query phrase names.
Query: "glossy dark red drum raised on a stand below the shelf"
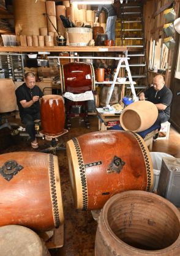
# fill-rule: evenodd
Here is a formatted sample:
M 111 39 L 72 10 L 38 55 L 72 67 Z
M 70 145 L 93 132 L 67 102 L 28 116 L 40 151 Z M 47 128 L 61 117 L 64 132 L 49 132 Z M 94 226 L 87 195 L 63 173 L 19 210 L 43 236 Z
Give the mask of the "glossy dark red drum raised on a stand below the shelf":
M 91 63 L 72 62 L 60 66 L 61 90 L 80 94 L 95 90 L 94 67 Z

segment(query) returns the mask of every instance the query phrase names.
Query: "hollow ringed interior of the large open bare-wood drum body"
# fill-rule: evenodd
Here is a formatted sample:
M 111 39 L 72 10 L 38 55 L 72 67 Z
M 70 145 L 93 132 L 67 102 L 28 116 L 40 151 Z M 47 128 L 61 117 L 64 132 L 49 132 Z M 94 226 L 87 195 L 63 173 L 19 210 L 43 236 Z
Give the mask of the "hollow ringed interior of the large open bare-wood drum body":
M 118 197 L 107 211 L 107 222 L 124 243 L 137 249 L 161 250 L 178 239 L 179 219 L 167 204 L 149 200 L 147 194 Z

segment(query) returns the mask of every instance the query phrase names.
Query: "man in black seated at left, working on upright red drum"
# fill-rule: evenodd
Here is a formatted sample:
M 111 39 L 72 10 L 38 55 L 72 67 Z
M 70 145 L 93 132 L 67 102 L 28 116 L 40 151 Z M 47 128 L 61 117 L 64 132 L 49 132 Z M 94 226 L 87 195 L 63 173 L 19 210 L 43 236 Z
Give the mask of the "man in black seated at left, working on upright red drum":
M 15 91 L 17 96 L 17 104 L 20 111 L 21 121 L 25 124 L 26 130 L 30 136 L 32 148 L 38 148 L 35 137 L 36 119 L 40 119 L 40 102 L 43 96 L 39 86 L 35 85 L 36 78 L 34 73 L 28 72 L 24 75 L 25 83 L 18 87 Z

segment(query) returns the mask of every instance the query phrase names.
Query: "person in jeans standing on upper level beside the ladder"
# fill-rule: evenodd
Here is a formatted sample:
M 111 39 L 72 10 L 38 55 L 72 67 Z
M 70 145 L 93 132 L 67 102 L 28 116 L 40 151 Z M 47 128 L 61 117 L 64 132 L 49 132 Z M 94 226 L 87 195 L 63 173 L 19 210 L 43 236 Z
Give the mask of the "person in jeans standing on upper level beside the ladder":
M 117 13 L 116 10 L 114 9 L 112 4 L 99 4 L 98 10 L 96 13 L 96 19 L 95 19 L 95 24 L 97 23 L 99 19 L 100 12 L 102 10 L 105 11 L 107 14 L 107 27 L 106 27 L 106 33 L 108 35 L 108 40 L 114 40 L 115 42 L 115 27 L 116 27 L 116 18 L 117 18 Z

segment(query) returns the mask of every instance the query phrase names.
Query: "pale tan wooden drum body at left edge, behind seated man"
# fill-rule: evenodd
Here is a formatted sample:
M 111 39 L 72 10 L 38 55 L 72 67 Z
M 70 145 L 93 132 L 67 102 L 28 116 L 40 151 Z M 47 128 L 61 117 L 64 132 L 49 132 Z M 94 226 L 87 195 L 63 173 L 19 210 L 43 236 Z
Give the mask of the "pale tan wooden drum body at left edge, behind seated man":
M 0 113 L 14 111 L 17 105 L 15 85 L 12 79 L 0 79 Z

